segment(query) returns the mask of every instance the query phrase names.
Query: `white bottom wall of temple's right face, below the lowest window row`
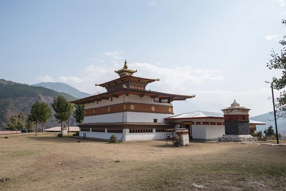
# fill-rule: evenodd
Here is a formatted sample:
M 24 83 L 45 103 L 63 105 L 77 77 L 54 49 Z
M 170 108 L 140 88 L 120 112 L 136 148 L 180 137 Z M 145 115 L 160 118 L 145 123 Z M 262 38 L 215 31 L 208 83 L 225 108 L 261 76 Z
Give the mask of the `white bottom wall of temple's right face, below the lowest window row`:
M 155 132 L 156 129 L 153 129 L 153 133 L 129 133 L 129 129 L 126 129 L 126 141 L 132 140 L 151 140 L 151 139 L 164 139 L 167 137 L 166 132 Z M 172 135 L 172 132 L 168 132 L 168 135 Z

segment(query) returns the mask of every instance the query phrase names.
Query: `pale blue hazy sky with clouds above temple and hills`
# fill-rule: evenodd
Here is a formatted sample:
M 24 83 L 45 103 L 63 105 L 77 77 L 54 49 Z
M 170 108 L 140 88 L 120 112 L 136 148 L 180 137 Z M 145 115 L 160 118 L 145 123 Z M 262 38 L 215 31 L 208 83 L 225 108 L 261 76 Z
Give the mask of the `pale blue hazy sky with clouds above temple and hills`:
M 0 75 L 20 83 L 64 82 L 87 93 L 114 70 L 160 78 L 147 89 L 271 111 L 281 76 L 265 62 L 286 34 L 286 2 L 0 1 Z M 276 93 L 277 95 L 277 93 Z M 223 108 L 221 108 L 223 109 Z

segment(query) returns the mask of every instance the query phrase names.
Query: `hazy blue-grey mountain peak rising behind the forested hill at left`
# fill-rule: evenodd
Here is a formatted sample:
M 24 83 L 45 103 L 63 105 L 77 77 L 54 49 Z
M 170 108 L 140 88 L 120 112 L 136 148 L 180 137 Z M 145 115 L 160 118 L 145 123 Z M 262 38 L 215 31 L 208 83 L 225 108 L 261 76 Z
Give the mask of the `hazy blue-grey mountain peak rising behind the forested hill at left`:
M 80 90 L 77 90 L 74 87 L 71 87 L 70 85 L 61 82 L 41 82 L 38 84 L 33 84 L 32 86 L 41 86 L 55 90 L 57 92 L 68 93 L 69 95 L 74 96 L 76 98 L 86 98 L 88 96 L 92 96 L 89 93 L 81 92 Z

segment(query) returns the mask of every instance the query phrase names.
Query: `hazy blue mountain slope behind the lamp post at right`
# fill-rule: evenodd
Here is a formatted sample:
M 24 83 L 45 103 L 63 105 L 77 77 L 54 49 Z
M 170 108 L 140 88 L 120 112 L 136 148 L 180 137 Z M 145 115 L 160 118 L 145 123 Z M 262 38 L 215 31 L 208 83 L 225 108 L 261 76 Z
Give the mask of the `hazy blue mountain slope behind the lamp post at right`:
M 261 121 L 267 123 L 266 125 L 257 125 L 257 130 L 264 130 L 267 129 L 270 125 L 272 125 L 274 131 L 275 131 L 275 121 L 274 121 L 274 115 L 271 115 L 270 113 L 264 113 L 262 115 L 257 115 L 254 117 L 250 117 L 249 119 L 254 121 Z M 271 120 L 271 121 L 269 121 Z M 285 118 L 279 118 L 277 119 L 277 130 L 279 132 L 285 132 L 286 133 L 286 119 Z

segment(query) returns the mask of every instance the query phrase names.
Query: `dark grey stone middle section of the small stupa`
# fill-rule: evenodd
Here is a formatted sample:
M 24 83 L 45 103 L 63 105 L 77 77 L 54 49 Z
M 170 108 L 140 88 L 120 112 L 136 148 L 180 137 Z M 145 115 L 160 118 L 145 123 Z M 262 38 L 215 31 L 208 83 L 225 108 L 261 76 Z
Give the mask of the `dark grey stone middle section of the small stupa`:
M 224 121 L 226 135 L 249 135 L 249 121 Z

